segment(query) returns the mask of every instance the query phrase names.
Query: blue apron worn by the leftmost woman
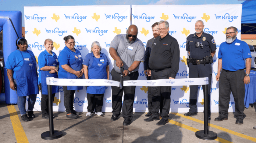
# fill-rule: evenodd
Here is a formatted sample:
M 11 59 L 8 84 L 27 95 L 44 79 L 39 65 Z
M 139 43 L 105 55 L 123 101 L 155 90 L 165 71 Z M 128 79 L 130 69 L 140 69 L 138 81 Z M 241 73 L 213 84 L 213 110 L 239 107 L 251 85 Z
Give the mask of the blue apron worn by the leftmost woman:
M 34 59 L 31 54 L 30 54 L 31 57 L 23 57 L 22 52 L 21 52 L 21 56 L 23 60 L 23 65 L 16 72 L 18 96 L 28 96 L 31 94 L 39 94 L 38 76 L 36 73 L 36 59 Z

